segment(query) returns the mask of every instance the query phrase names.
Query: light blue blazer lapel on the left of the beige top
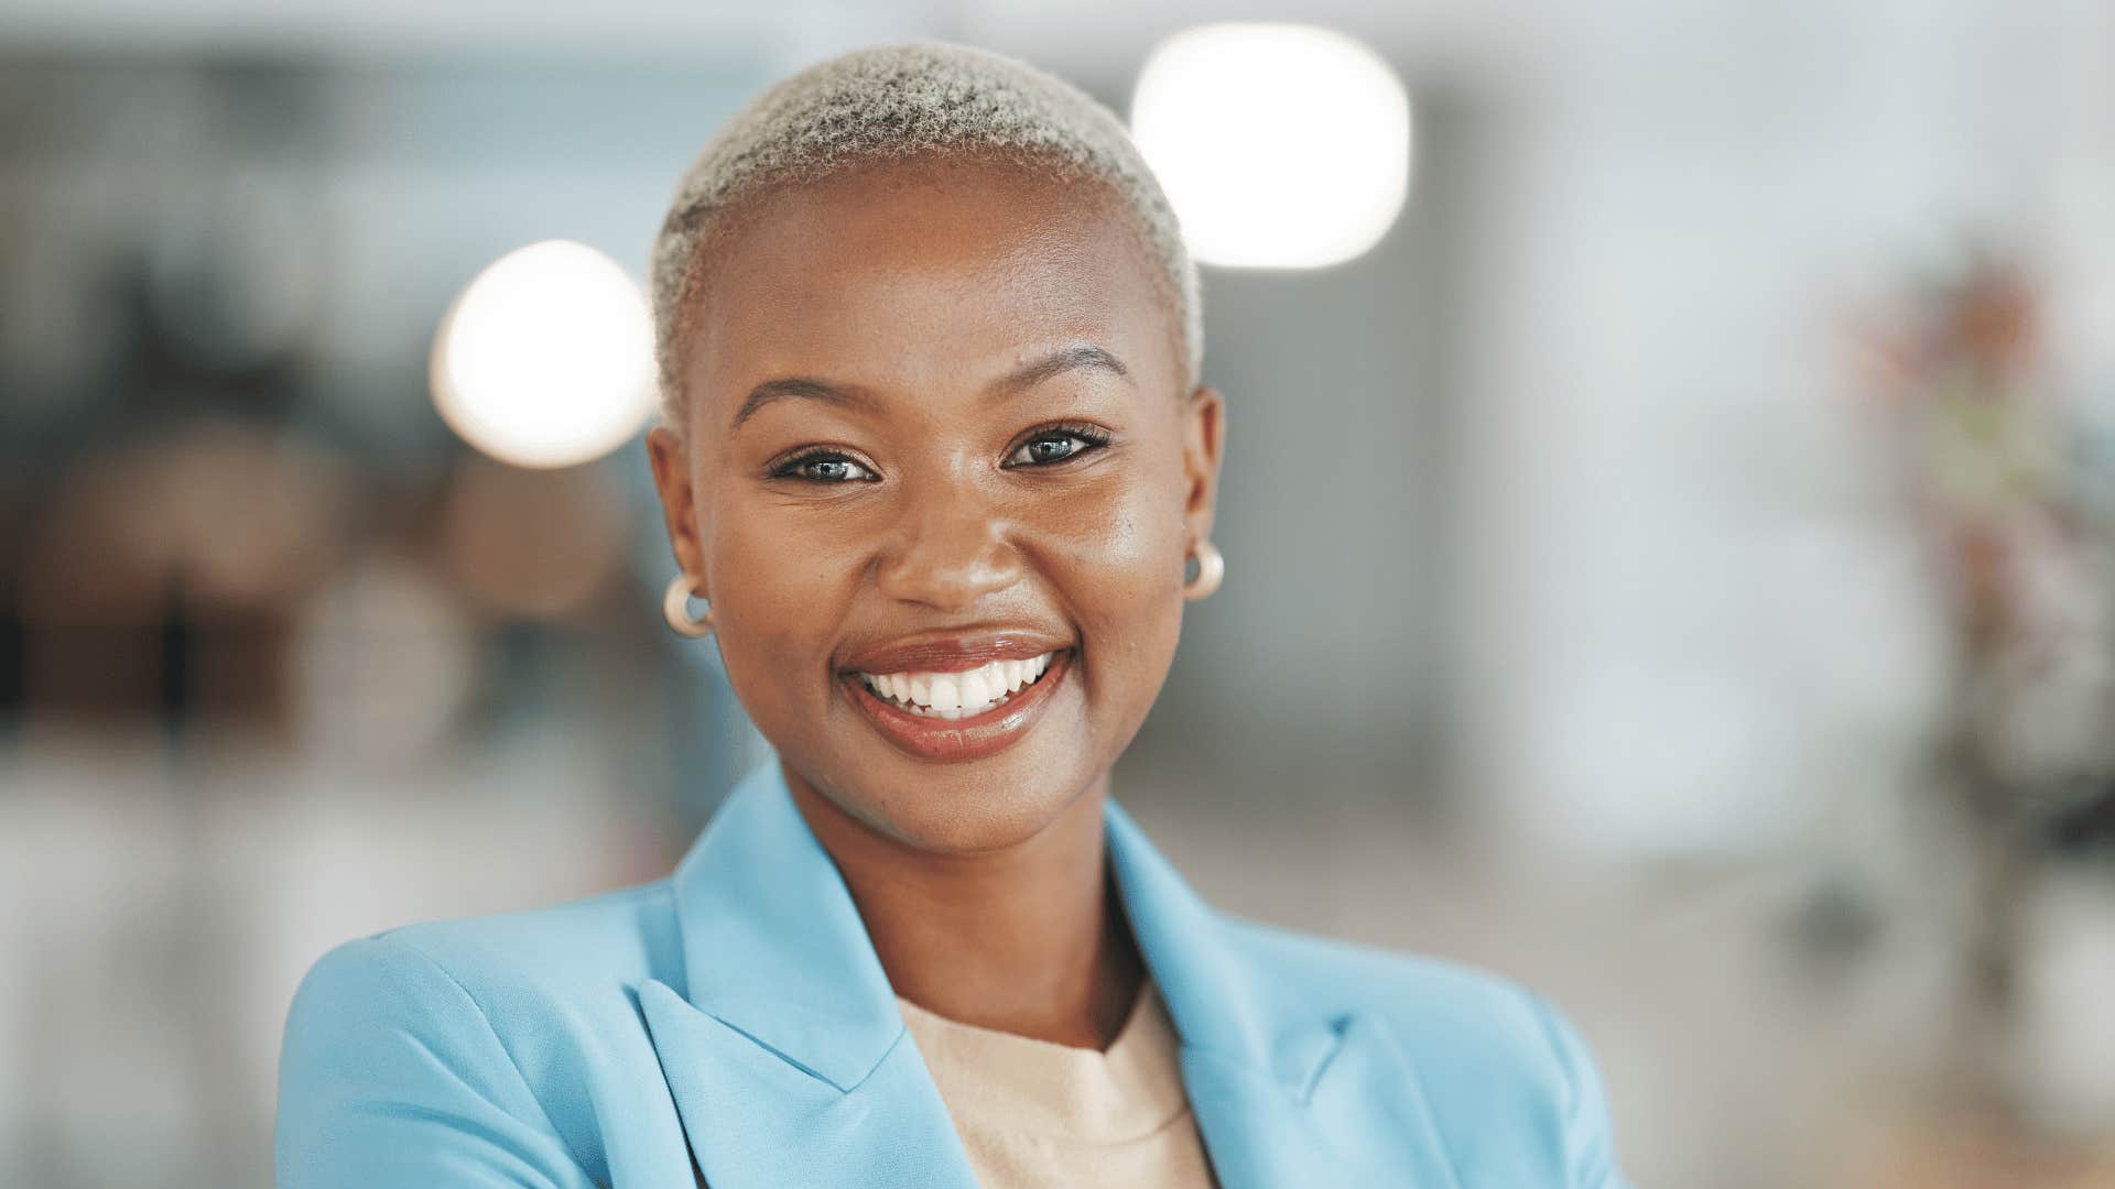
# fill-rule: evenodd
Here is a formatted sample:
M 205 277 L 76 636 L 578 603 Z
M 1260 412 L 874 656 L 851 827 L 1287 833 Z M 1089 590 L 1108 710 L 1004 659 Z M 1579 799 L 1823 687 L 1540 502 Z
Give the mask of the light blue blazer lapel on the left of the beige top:
M 687 988 L 639 1009 L 713 1189 L 975 1189 L 948 1106 L 776 757 L 675 872 Z

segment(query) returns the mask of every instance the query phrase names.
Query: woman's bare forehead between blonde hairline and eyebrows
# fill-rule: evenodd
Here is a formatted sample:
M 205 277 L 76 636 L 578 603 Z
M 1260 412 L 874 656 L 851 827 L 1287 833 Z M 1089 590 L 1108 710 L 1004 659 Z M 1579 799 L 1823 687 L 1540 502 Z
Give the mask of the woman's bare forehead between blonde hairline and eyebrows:
M 981 163 L 780 188 L 715 237 L 694 300 L 709 400 L 761 374 L 950 383 L 1064 343 L 1167 383 L 1180 360 L 1172 294 L 1121 205 Z

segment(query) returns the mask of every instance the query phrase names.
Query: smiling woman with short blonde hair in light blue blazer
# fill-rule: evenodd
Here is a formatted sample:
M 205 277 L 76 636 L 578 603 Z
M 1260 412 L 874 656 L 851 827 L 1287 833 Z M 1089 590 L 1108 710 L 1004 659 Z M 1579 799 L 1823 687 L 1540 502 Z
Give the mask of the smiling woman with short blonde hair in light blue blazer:
M 1110 802 L 1220 582 L 1222 404 L 1106 108 L 810 68 L 692 167 L 654 305 L 668 618 L 776 755 L 668 880 L 321 958 L 281 1185 L 1622 1185 L 1546 1003 L 1222 918 Z

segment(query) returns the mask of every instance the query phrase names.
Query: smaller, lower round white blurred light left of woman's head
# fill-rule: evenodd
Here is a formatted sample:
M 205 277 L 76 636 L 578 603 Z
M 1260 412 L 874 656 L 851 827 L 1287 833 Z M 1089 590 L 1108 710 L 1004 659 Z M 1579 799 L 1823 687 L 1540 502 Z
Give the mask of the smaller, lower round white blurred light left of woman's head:
M 455 298 L 434 404 L 499 461 L 560 468 L 624 444 L 654 410 L 654 326 L 615 260 L 569 239 L 508 252 Z

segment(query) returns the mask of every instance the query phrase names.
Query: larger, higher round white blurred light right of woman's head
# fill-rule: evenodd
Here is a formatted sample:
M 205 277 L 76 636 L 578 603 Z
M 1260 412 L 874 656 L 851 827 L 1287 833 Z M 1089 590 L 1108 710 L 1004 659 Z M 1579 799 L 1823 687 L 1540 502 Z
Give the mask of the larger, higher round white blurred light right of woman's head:
M 1206 264 L 1320 269 L 1387 235 L 1411 99 L 1366 44 L 1313 25 L 1184 30 L 1146 59 L 1132 135 Z

